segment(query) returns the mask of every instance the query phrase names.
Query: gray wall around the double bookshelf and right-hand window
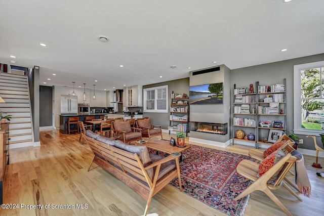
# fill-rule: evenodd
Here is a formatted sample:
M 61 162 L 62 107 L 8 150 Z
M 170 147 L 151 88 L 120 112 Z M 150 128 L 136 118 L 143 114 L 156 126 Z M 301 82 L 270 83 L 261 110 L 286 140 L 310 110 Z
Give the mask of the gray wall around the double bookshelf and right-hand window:
M 287 129 L 288 132 L 292 132 L 294 129 L 294 65 L 305 64 L 310 62 L 323 61 L 324 54 L 307 56 L 302 58 L 290 59 L 286 61 L 273 62 L 269 64 L 256 65 L 251 67 L 239 68 L 231 70 L 231 95 L 233 95 L 234 84 L 237 87 L 249 87 L 250 83 L 253 83 L 254 90 L 256 91 L 255 82 L 259 81 L 260 85 L 269 85 L 282 83 L 286 78 L 286 105 L 287 105 Z M 231 97 L 231 104 L 233 103 L 233 97 Z M 231 107 L 231 119 L 232 119 L 233 107 Z M 231 127 L 232 132 L 232 127 Z M 300 148 L 314 150 L 313 140 L 306 138 L 303 135 L 298 135 L 301 139 L 304 139 L 304 144 L 299 144 Z M 321 143 L 320 138 L 316 139 L 317 143 Z

